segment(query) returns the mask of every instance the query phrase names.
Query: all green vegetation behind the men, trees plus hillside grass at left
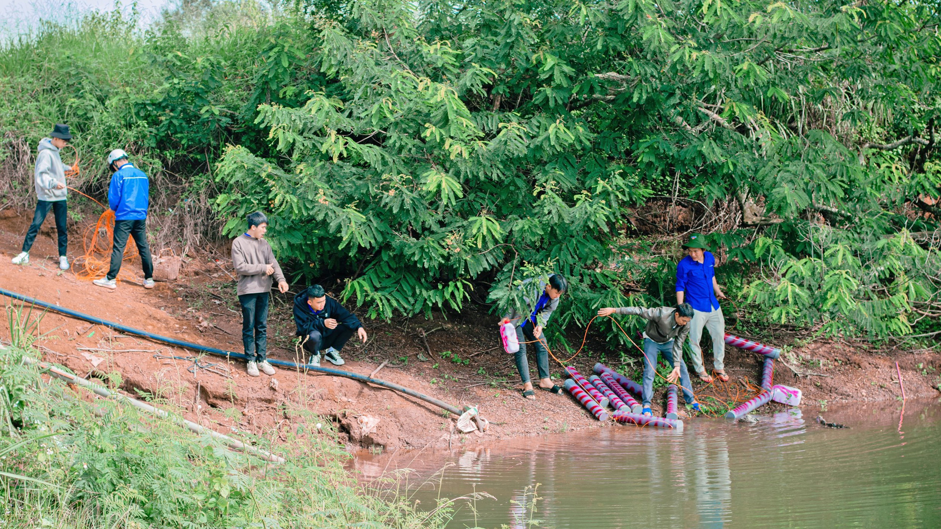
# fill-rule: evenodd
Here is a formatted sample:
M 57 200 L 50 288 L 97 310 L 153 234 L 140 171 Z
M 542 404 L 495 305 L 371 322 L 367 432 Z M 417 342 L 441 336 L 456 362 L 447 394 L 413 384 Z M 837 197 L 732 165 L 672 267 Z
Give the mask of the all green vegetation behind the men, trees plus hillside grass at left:
M 262 209 L 295 278 L 346 281 L 373 316 L 481 290 L 502 310 L 527 265 L 571 280 L 563 324 L 672 303 L 678 238 L 722 215 L 723 281 L 767 321 L 931 332 L 938 20 L 770 0 L 218 2 L 145 34 L 97 15 L 4 49 L 0 126 L 35 143 L 64 116 L 94 152 L 131 146 L 160 200 L 212 198 L 226 235 Z M 676 200 L 692 225 L 637 222 Z

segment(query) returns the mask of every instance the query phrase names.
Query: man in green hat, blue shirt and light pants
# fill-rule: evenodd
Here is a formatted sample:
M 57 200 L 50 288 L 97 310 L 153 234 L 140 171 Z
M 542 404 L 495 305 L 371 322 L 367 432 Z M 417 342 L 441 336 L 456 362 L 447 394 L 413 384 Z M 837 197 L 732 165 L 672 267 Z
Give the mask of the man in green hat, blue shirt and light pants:
M 699 346 L 705 327 L 712 337 L 716 375 L 727 382 L 726 366 L 723 363 L 726 359 L 726 317 L 719 306 L 719 299 L 725 299 L 726 295 L 715 281 L 715 257 L 699 233 L 691 235 L 683 248 L 686 248 L 688 255 L 677 264 L 677 304 L 685 301 L 693 306 L 693 320 L 690 322 L 693 368 L 703 382 L 712 381 L 703 366 L 703 352 Z

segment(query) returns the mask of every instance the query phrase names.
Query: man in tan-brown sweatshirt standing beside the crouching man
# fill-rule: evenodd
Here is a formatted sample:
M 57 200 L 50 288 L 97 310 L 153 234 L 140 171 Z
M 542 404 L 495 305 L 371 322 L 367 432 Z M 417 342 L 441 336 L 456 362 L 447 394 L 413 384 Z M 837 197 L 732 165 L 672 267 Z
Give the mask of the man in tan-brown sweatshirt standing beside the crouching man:
M 281 266 L 275 259 L 271 245 L 264 240 L 268 231 L 268 217 L 260 211 L 248 216 L 248 231 L 232 241 L 232 265 L 238 274 L 238 301 L 242 305 L 242 345 L 248 357 L 247 373 L 259 377 L 274 375 L 275 368 L 268 363 L 268 293 L 272 278 L 278 281 L 281 294 L 288 291 Z

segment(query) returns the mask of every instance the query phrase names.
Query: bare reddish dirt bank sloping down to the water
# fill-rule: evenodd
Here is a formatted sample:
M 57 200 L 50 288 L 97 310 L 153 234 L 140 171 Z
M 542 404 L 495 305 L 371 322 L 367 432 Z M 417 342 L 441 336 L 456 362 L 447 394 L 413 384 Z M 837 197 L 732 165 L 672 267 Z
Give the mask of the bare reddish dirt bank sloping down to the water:
M 234 285 L 216 264 L 194 260 L 184 266 L 185 277 L 176 284 L 157 283 L 151 291 L 130 281 L 121 283 L 116 291 L 108 291 L 90 281 L 77 279 L 71 270 L 60 273 L 56 266 L 56 245 L 48 227 L 40 232 L 30 253 L 31 263 L 11 264 L 9 259 L 19 252 L 28 218 L 10 215 L 9 211 L 0 212 L 0 216 L 3 216 L 0 218 L 0 285 L 3 288 L 137 329 L 241 351 L 241 318 L 231 310 Z M 75 226 L 70 227 L 70 232 L 81 231 Z M 72 236 L 71 258 L 77 256 L 80 246 L 79 238 Z M 125 270 L 134 274 L 139 275 L 139 269 L 139 264 L 125 264 Z M 213 278 L 214 275 L 221 279 Z M 218 284 L 222 280 L 225 283 Z M 213 287 L 219 286 L 222 290 L 214 290 Z M 5 298 L 5 303 L 10 301 Z M 290 301 L 290 295 L 275 295 L 273 300 L 269 317 L 269 356 L 295 361 L 295 351 L 290 345 L 293 334 Z M 6 320 L 6 313 L 2 317 Z M 366 347 L 351 345 L 344 351 L 348 360 L 343 366 L 345 370 L 369 375 L 379 363 L 388 361 L 389 365 L 376 377 L 457 407 L 478 406 L 491 422 L 490 430 L 484 435 L 461 435 L 453 429 L 455 418 L 445 417 L 431 405 L 343 377 L 303 375 L 285 369 L 280 369 L 275 377 L 247 377 L 239 361 L 231 362 L 231 378 L 201 369 L 194 375 L 186 371 L 191 361 L 153 358 L 153 355 L 190 357 L 192 352 L 123 336 L 56 313 L 43 316 L 40 329 L 48 335 L 38 344 L 45 361 L 64 364 L 81 376 L 104 378 L 108 374 L 120 374 L 120 388 L 125 392 L 133 396 L 138 392 L 158 395 L 180 406 L 188 419 L 222 432 L 232 428 L 277 436 L 296 422 L 305 421 L 298 409 L 310 409 L 330 418 L 345 432 L 345 441 L 365 447 L 447 446 L 599 425 L 566 395 L 537 392 L 536 401 L 522 399 L 516 389 L 518 377 L 512 357 L 499 347 L 493 321 L 491 316 L 471 310 L 449 315 L 448 320 L 436 315 L 433 320 L 416 317 L 404 324 L 403 320 L 366 322 L 370 343 Z M 419 355 L 427 356 L 416 333 L 420 327 L 429 331 L 438 329 L 427 337 L 428 348 L 433 353 L 429 361 L 416 360 Z M 3 329 L 0 336 L 8 341 L 6 321 Z M 88 348 L 113 352 L 84 350 Z M 146 351 L 120 352 L 127 349 Z M 795 367 L 821 376 L 798 378 L 788 367 L 776 362 L 775 382 L 801 388 L 807 404 L 895 399 L 899 394 L 896 360 L 901 365 L 909 398 L 938 395 L 933 387 L 938 383 L 938 371 L 933 369 L 941 367 L 941 355 L 934 352 L 902 352 L 889 358 L 822 342 L 794 350 L 806 362 Z M 452 351 L 470 363 L 457 365 L 441 358 L 443 351 Z M 87 354 L 104 361 L 94 368 Z M 407 363 L 402 357 L 407 357 Z M 598 360 L 597 356 L 580 357 L 574 363 L 582 373 L 589 373 Z M 225 359 L 211 356 L 202 361 L 225 364 Z M 726 364 L 733 384 L 742 377 L 752 380 L 759 377 L 757 355 L 730 347 Z M 558 365 L 552 366 L 553 375 L 559 371 Z M 274 379 L 277 383 L 273 383 Z M 694 391 L 702 386 L 695 384 Z M 660 401 L 662 399 L 655 402 Z M 362 416 L 379 419 L 375 432 L 362 431 L 358 421 Z

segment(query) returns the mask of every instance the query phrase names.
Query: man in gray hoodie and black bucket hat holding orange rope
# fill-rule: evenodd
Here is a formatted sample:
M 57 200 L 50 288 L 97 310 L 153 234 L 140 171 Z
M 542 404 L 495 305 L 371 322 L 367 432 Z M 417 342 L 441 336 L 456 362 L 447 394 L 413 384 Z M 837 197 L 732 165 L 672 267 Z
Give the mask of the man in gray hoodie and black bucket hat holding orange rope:
M 56 216 L 56 232 L 58 232 L 59 268 L 68 270 L 69 259 L 66 257 L 66 250 L 69 246 L 69 235 L 66 232 L 68 208 L 66 206 L 65 166 L 62 165 L 59 151 L 69 144 L 72 134 L 69 133 L 69 125 L 56 123 L 49 136 L 52 137 L 40 139 L 40 146 L 36 153 L 35 181 L 36 196 L 39 200 L 36 202 L 33 223 L 26 231 L 23 251 L 13 258 L 13 264 L 29 263 L 29 248 L 33 248 L 40 226 L 49 215 L 49 210 L 52 209 Z

